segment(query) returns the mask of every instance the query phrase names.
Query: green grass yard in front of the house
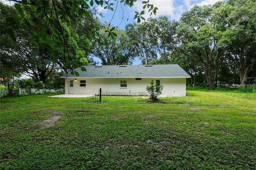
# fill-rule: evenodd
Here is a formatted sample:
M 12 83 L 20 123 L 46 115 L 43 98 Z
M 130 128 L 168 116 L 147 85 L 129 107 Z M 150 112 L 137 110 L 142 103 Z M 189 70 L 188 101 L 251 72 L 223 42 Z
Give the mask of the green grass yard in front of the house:
M 255 93 L 47 96 L 1 98 L 1 169 L 256 169 Z

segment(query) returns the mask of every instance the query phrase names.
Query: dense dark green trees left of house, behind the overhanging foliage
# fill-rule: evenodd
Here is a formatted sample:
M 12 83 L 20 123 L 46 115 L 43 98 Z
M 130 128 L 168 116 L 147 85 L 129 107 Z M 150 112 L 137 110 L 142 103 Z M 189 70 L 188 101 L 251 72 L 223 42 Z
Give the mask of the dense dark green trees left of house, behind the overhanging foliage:
M 87 25 L 80 26 L 77 31 L 76 27 L 70 23 L 61 23 L 62 32 L 66 39 L 66 47 L 70 50 L 65 53 L 59 45 L 55 43 L 46 44 L 44 40 L 38 40 L 32 34 L 31 30 L 26 29 L 26 20 L 21 18 L 21 15 L 15 10 L 13 6 L 4 4 L 1 5 L 1 75 L 4 80 L 11 79 L 13 75 L 20 75 L 24 73 L 33 77 L 36 81 L 45 83 L 48 75 L 56 65 L 67 72 L 67 68 L 75 63 L 76 65 L 88 65 L 86 56 L 90 50 L 90 40 L 92 37 L 88 34 L 94 28 L 92 25 L 92 17 L 85 18 L 92 20 L 90 29 Z M 30 12 L 24 12 L 24 16 L 30 16 Z M 15 16 L 20 18 L 15 27 L 10 26 L 8 18 Z M 92 18 L 92 19 L 91 19 Z M 40 22 L 42 22 L 41 20 Z M 89 30 L 88 30 L 89 29 Z M 8 32 L 15 32 L 15 37 L 18 41 L 15 43 L 8 36 Z M 34 31 L 34 30 L 33 30 Z M 76 32 L 78 33 L 76 33 Z M 80 36 L 78 36 L 80 34 Z M 60 37 L 62 39 L 62 37 Z M 52 55 L 54 54 L 54 55 Z M 8 74 L 7 74 L 8 73 Z

